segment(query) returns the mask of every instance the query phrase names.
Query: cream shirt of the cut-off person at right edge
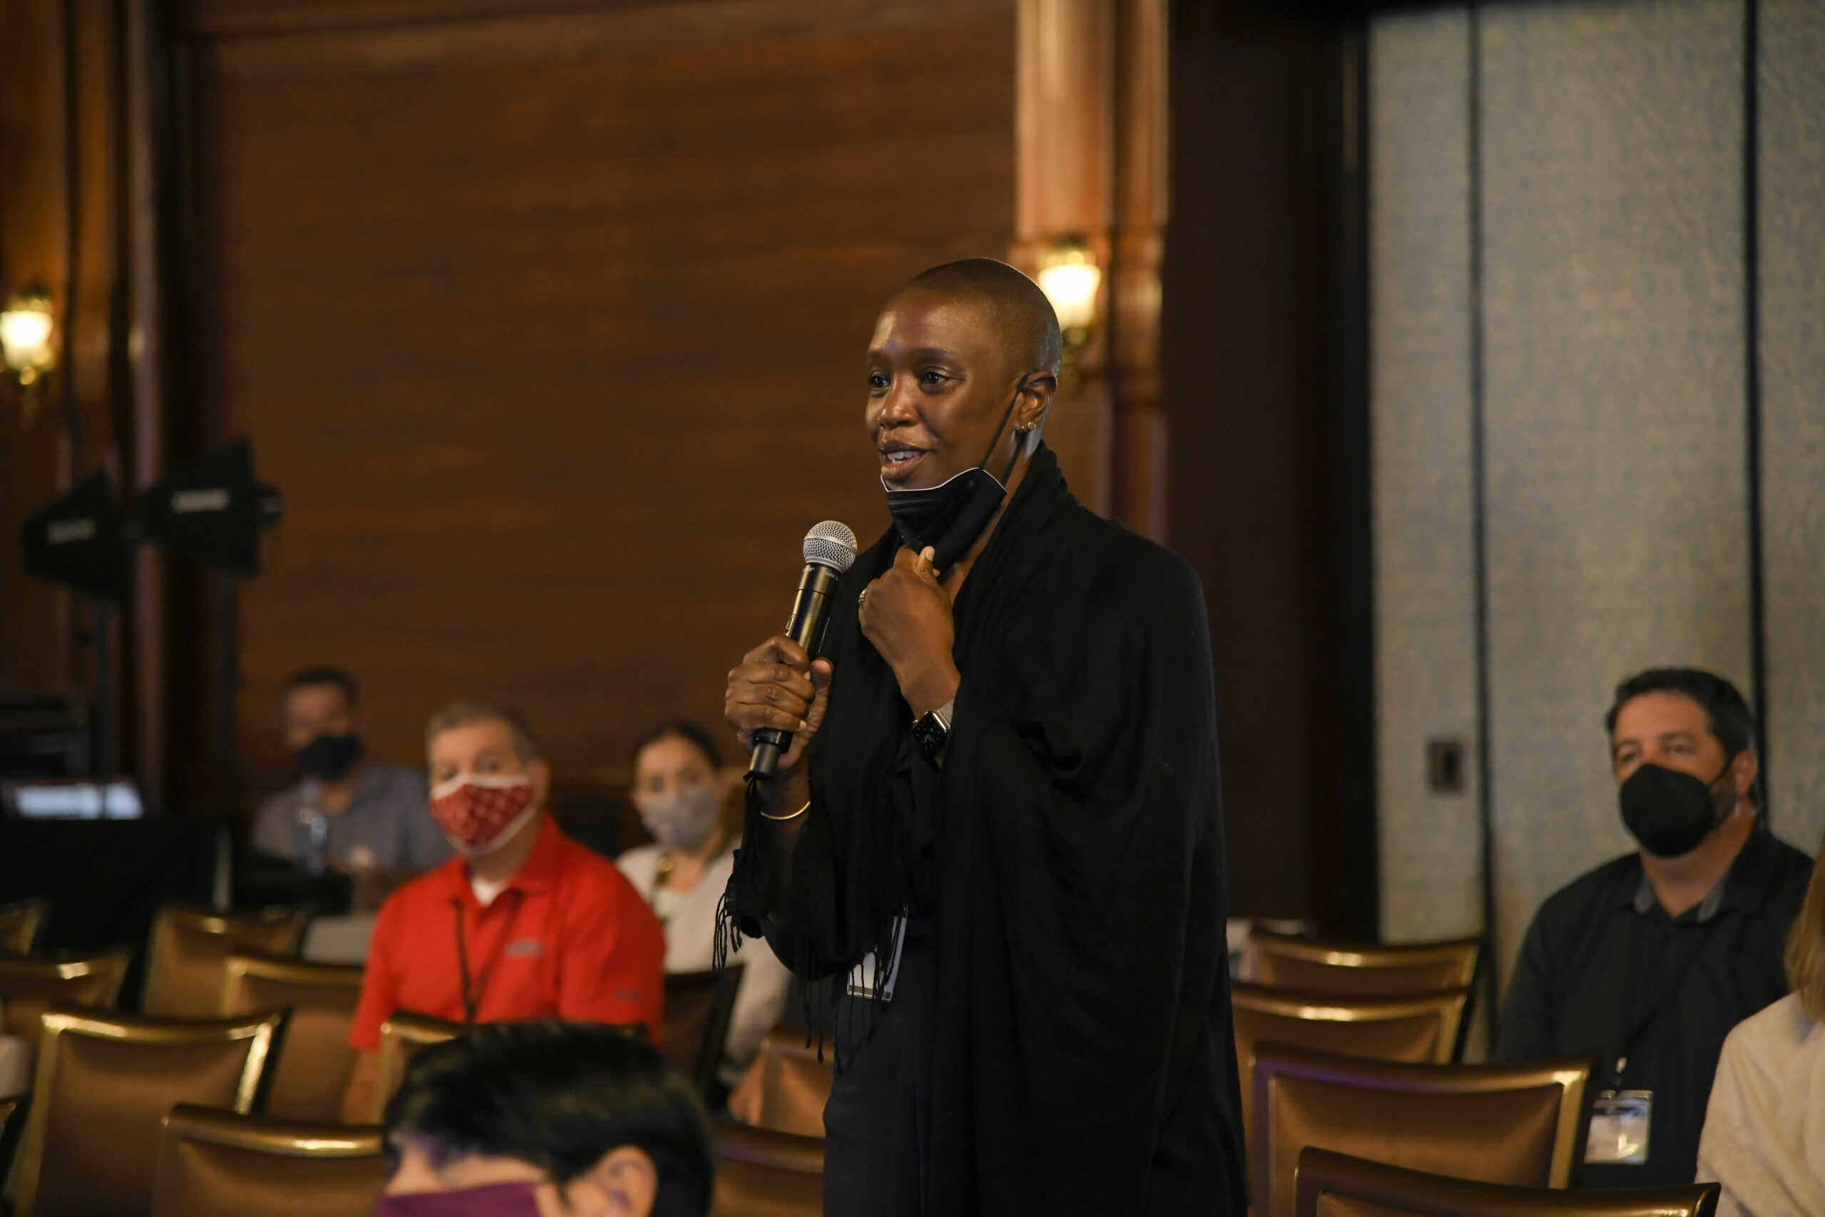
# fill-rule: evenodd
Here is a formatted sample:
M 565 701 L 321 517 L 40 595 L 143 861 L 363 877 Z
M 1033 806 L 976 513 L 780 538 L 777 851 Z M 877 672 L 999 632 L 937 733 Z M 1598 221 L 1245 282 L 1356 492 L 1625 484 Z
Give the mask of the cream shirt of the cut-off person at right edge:
M 1717 1217 L 1825 1213 L 1825 1027 L 1799 994 L 1723 1042 L 1697 1179 L 1723 1184 Z

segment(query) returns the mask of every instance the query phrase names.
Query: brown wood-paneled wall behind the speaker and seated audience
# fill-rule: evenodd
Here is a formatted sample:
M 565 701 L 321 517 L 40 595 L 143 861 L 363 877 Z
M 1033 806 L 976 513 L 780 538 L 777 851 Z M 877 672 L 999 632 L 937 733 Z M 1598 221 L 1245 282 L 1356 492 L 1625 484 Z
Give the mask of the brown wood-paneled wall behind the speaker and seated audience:
M 467 697 L 571 781 L 715 726 L 805 529 L 887 522 L 876 308 L 1009 246 L 1011 4 L 214 0 L 182 40 L 186 409 L 287 494 L 245 755 L 285 766 L 314 662 L 400 759 Z

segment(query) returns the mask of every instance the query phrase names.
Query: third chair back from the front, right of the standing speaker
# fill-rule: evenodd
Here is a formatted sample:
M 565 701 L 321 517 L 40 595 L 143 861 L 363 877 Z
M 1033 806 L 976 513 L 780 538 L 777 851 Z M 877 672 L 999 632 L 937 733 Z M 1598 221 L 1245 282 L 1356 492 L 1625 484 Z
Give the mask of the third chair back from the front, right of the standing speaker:
M 1340 1056 L 1444 1066 L 1456 1060 L 1469 989 L 1413 996 L 1332 998 L 1261 985 L 1230 985 L 1236 1066 L 1243 1080 L 1243 1128 L 1254 1106 L 1248 1086 L 1256 1044 L 1288 1044 Z

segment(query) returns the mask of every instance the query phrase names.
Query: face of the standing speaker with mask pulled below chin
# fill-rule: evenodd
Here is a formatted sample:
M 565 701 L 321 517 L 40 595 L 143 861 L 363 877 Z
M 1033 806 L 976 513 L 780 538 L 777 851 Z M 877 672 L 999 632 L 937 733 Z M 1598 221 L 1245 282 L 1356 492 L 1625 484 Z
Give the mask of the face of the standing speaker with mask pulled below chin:
M 995 317 L 969 299 L 909 290 L 889 301 L 869 345 L 869 438 L 896 491 L 949 482 L 982 462 L 1000 478 L 1017 449 L 1015 423 L 1042 403 L 1022 396 L 1000 431 L 1026 369 L 1013 367 Z

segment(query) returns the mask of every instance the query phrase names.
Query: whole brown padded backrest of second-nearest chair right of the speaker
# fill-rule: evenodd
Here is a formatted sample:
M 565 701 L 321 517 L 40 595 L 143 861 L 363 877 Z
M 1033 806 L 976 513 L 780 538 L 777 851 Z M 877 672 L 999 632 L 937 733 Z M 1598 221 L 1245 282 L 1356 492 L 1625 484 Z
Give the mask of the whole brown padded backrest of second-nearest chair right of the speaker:
M 1584 1157 L 1591 1058 L 1409 1066 L 1257 1044 L 1248 1168 L 1256 1217 L 1292 1217 L 1307 1146 L 1524 1188 Z

